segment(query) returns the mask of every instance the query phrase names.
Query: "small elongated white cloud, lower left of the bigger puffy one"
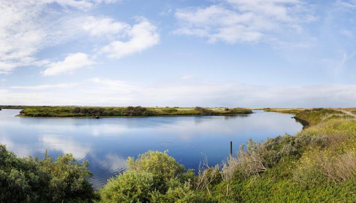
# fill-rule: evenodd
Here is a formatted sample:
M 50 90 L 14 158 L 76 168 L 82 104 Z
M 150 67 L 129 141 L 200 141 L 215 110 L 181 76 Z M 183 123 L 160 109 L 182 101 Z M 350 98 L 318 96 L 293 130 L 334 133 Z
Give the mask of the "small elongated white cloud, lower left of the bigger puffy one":
M 90 66 L 94 63 L 85 53 L 73 53 L 64 58 L 63 61 L 53 62 L 41 73 L 44 76 L 54 76 L 60 74 L 73 73 L 73 71 Z

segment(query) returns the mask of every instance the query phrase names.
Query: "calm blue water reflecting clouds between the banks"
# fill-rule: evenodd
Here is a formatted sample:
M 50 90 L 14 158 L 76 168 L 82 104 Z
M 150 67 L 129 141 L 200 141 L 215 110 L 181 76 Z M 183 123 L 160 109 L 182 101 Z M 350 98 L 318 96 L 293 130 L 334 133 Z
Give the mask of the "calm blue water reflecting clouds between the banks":
M 209 165 L 221 163 L 249 138 L 295 134 L 302 125 L 291 114 L 254 111 L 237 116 L 181 116 L 131 118 L 22 118 L 20 110 L 0 111 L 0 143 L 19 156 L 40 156 L 45 150 L 52 157 L 72 153 L 78 160 L 89 160 L 98 188 L 111 176 L 126 170 L 128 156 L 148 150 L 165 151 L 197 169 L 205 154 Z

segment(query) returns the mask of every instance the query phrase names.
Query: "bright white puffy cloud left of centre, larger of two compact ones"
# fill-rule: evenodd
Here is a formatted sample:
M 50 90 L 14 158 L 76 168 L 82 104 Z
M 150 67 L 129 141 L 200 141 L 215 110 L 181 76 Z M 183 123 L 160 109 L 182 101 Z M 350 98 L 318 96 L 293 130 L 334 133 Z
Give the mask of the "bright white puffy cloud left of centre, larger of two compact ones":
M 122 58 L 136 52 L 146 50 L 158 44 L 160 36 L 157 27 L 146 19 L 135 24 L 131 29 L 126 31 L 130 38 L 128 41 L 116 40 L 109 45 L 104 46 L 100 53 L 106 53 L 109 58 Z

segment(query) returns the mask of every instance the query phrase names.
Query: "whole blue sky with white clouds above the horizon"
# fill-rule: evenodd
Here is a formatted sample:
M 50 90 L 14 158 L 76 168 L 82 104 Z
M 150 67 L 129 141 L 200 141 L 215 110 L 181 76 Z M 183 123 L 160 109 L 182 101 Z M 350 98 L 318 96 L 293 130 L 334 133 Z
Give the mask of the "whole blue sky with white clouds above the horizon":
M 0 104 L 356 106 L 356 0 L 0 0 Z

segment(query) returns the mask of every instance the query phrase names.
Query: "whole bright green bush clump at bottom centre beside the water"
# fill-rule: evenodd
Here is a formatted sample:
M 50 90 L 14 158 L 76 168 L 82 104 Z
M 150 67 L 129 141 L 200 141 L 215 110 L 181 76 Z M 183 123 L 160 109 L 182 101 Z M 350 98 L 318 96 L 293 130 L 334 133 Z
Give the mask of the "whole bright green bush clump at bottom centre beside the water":
M 101 202 L 196 202 L 190 190 L 193 170 L 185 170 L 167 152 L 145 152 L 129 157 L 128 171 L 112 178 L 99 191 Z M 204 201 L 201 201 L 204 202 Z

